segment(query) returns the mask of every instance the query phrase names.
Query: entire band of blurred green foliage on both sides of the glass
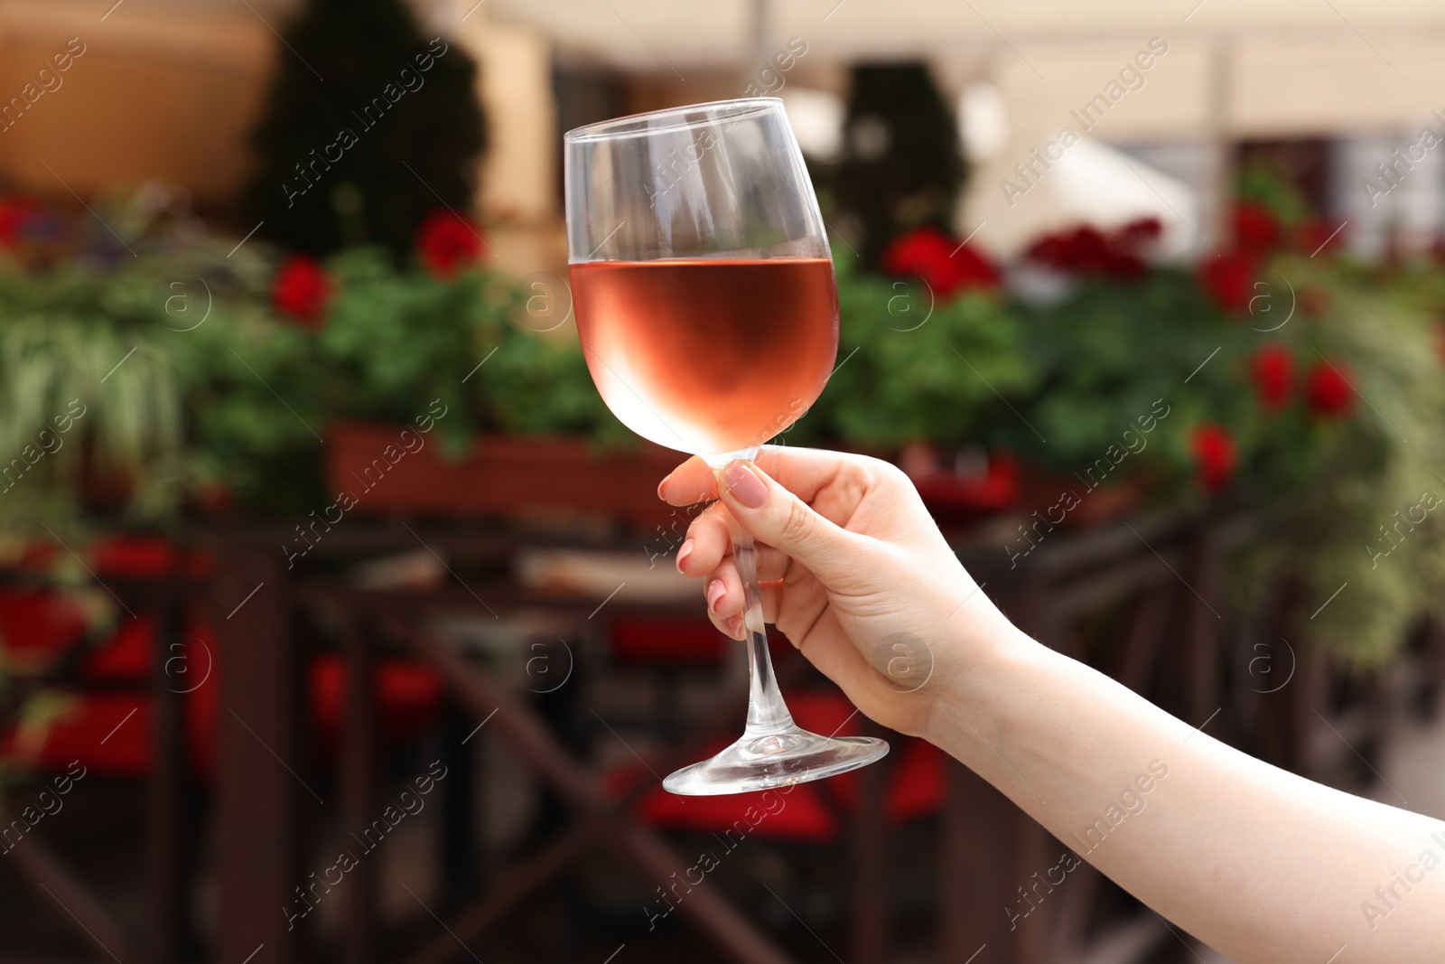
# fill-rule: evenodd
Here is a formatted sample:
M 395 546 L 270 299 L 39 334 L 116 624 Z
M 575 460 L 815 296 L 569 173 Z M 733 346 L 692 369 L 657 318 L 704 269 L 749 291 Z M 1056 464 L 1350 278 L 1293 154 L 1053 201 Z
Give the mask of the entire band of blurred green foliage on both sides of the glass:
M 318 266 L 329 296 L 324 318 L 303 322 L 273 306 L 263 247 L 168 233 L 131 208 L 104 214 L 126 225 L 134 257 L 103 238 L 0 257 L 0 470 L 12 468 L 0 526 L 12 538 L 117 515 L 165 528 L 218 496 L 253 515 L 305 512 L 322 494 L 329 425 L 412 421 L 432 399 L 449 408 L 444 457 L 488 432 L 631 438 L 575 338 L 517 324 L 530 288 L 351 249 Z M 1293 241 L 1251 259 L 1247 304 L 1231 309 L 1176 266 L 1078 272 L 1043 289 L 1019 275 L 936 298 L 840 254 L 838 369 L 786 441 L 981 445 L 1078 478 L 1162 403 L 1169 413 L 1107 484 L 1159 507 L 1243 510 L 1257 538 L 1231 569 L 1241 604 L 1289 574 L 1308 616 L 1347 584 L 1308 632 L 1381 659 L 1439 608 L 1445 577 L 1445 513 L 1419 519 L 1426 493 L 1445 494 L 1445 280 L 1433 257 L 1371 266 Z M 1270 403 L 1264 350 L 1290 363 Z M 1353 386 L 1334 409 L 1309 387 L 1325 360 Z M 75 405 L 84 413 L 59 432 Z M 1234 447 L 1220 491 L 1201 484 L 1205 423 Z

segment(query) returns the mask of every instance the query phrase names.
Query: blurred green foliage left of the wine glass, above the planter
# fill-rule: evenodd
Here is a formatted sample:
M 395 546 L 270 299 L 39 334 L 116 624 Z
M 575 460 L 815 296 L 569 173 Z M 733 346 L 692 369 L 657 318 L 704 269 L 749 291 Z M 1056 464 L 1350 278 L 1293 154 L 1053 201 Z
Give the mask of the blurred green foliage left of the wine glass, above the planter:
M 163 525 L 217 500 L 311 506 L 331 422 L 409 422 L 432 399 L 449 409 L 438 438 L 451 455 L 477 432 L 629 438 L 575 341 L 519 328 L 523 293 L 496 273 L 436 277 L 347 250 L 325 264 L 334 293 L 312 331 L 270 305 L 275 262 L 259 246 L 228 254 L 234 241 L 147 230 L 133 259 L 0 257 L 0 468 L 20 460 L 0 483 L 3 528 L 85 510 Z M 82 413 L 62 434 L 72 400 Z

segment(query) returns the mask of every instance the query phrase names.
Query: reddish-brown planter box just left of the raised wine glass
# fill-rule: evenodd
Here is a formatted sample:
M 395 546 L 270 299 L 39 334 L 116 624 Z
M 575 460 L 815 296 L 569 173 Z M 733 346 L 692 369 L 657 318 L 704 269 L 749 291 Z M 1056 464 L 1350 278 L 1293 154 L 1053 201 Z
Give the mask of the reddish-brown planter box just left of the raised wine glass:
M 392 516 L 604 516 L 650 528 L 675 512 L 657 483 L 686 455 L 639 442 L 595 451 L 579 438 L 483 438 L 447 460 L 432 438 L 405 452 L 403 426 L 341 422 L 327 429 L 327 481 L 357 500 L 348 512 Z M 413 442 L 415 445 L 415 442 Z M 400 458 L 392 462 L 387 457 Z

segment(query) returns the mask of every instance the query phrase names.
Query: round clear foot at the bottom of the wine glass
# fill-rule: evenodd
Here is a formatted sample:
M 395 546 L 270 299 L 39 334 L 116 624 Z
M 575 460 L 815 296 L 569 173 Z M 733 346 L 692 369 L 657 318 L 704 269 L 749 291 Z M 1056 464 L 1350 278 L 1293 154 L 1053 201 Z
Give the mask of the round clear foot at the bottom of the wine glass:
M 709 760 L 685 766 L 662 782 L 669 793 L 715 796 L 821 780 L 887 756 L 874 737 L 825 737 L 808 730 L 744 734 Z

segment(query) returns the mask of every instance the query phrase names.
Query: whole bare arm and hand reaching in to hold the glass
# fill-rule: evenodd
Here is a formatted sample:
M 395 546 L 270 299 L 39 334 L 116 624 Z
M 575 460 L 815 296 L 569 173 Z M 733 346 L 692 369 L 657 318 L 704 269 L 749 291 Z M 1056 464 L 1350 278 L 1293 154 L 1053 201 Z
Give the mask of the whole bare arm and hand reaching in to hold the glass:
M 1029 639 L 893 465 L 764 448 L 721 473 L 692 458 L 657 493 L 721 497 L 678 551 L 718 629 L 743 637 L 725 506 L 757 541 L 764 619 L 860 711 L 961 760 L 1231 960 L 1445 960 L 1445 822 L 1261 763 Z M 897 633 L 926 647 L 922 687 L 876 668 Z

